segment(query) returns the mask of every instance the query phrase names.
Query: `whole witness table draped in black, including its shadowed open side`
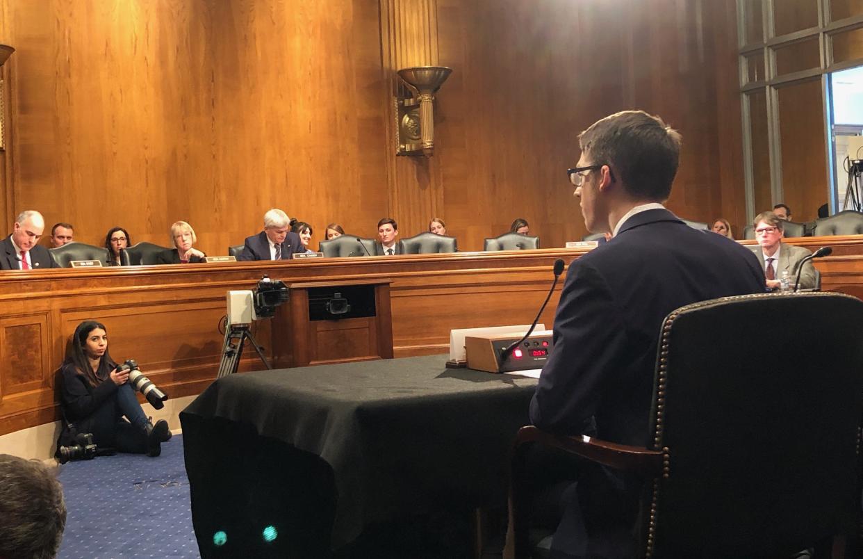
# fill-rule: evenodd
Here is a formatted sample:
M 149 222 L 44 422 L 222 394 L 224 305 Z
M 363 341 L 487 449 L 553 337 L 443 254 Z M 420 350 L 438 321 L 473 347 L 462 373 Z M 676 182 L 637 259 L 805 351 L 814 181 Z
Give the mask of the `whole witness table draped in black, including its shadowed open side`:
M 504 504 L 507 454 L 528 422 L 536 380 L 446 369 L 445 359 L 299 367 L 213 383 L 180 414 L 202 554 L 218 522 L 198 522 L 196 513 L 220 505 L 229 516 L 245 506 L 260 522 L 261 509 L 278 517 L 305 508 L 304 519 L 320 514 L 324 524 L 331 507 L 327 539 L 337 549 L 365 526 L 407 512 Z M 261 480 L 271 474 L 278 482 Z M 299 488 L 274 497 L 284 484 Z M 238 486 L 245 489 L 213 499 Z M 255 502 L 268 500 L 280 503 Z

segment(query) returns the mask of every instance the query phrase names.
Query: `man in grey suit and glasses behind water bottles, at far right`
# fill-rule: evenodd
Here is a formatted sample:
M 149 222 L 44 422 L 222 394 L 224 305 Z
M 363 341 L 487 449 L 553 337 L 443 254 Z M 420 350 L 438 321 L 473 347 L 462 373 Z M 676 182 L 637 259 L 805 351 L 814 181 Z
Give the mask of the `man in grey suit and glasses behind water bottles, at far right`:
M 791 287 L 794 287 L 800 262 L 812 254 L 809 249 L 802 246 L 784 245 L 783 223 L 784 220 L 773 212 L 759 213 L 753 220 L 755 239 L 759 245 L 755 254 L 761 261 L 761 268 L 764 269 L 767 289 L 779 289 L 783 273 L 787 274 Z M 811 260 L 807 260 L 803 264 L 803 271 L 800 272 L 800 289 L 812 289 L 815 283 L 815 266 L 812 265 Z

